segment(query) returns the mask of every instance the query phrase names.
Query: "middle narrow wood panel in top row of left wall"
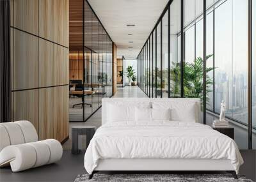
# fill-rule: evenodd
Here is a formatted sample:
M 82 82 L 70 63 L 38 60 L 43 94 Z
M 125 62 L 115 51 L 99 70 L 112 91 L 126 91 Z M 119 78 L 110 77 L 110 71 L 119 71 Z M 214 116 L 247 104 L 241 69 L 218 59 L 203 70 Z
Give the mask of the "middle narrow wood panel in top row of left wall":
M 54 0 L 39 0 L 39 36 L 54 41 Z

